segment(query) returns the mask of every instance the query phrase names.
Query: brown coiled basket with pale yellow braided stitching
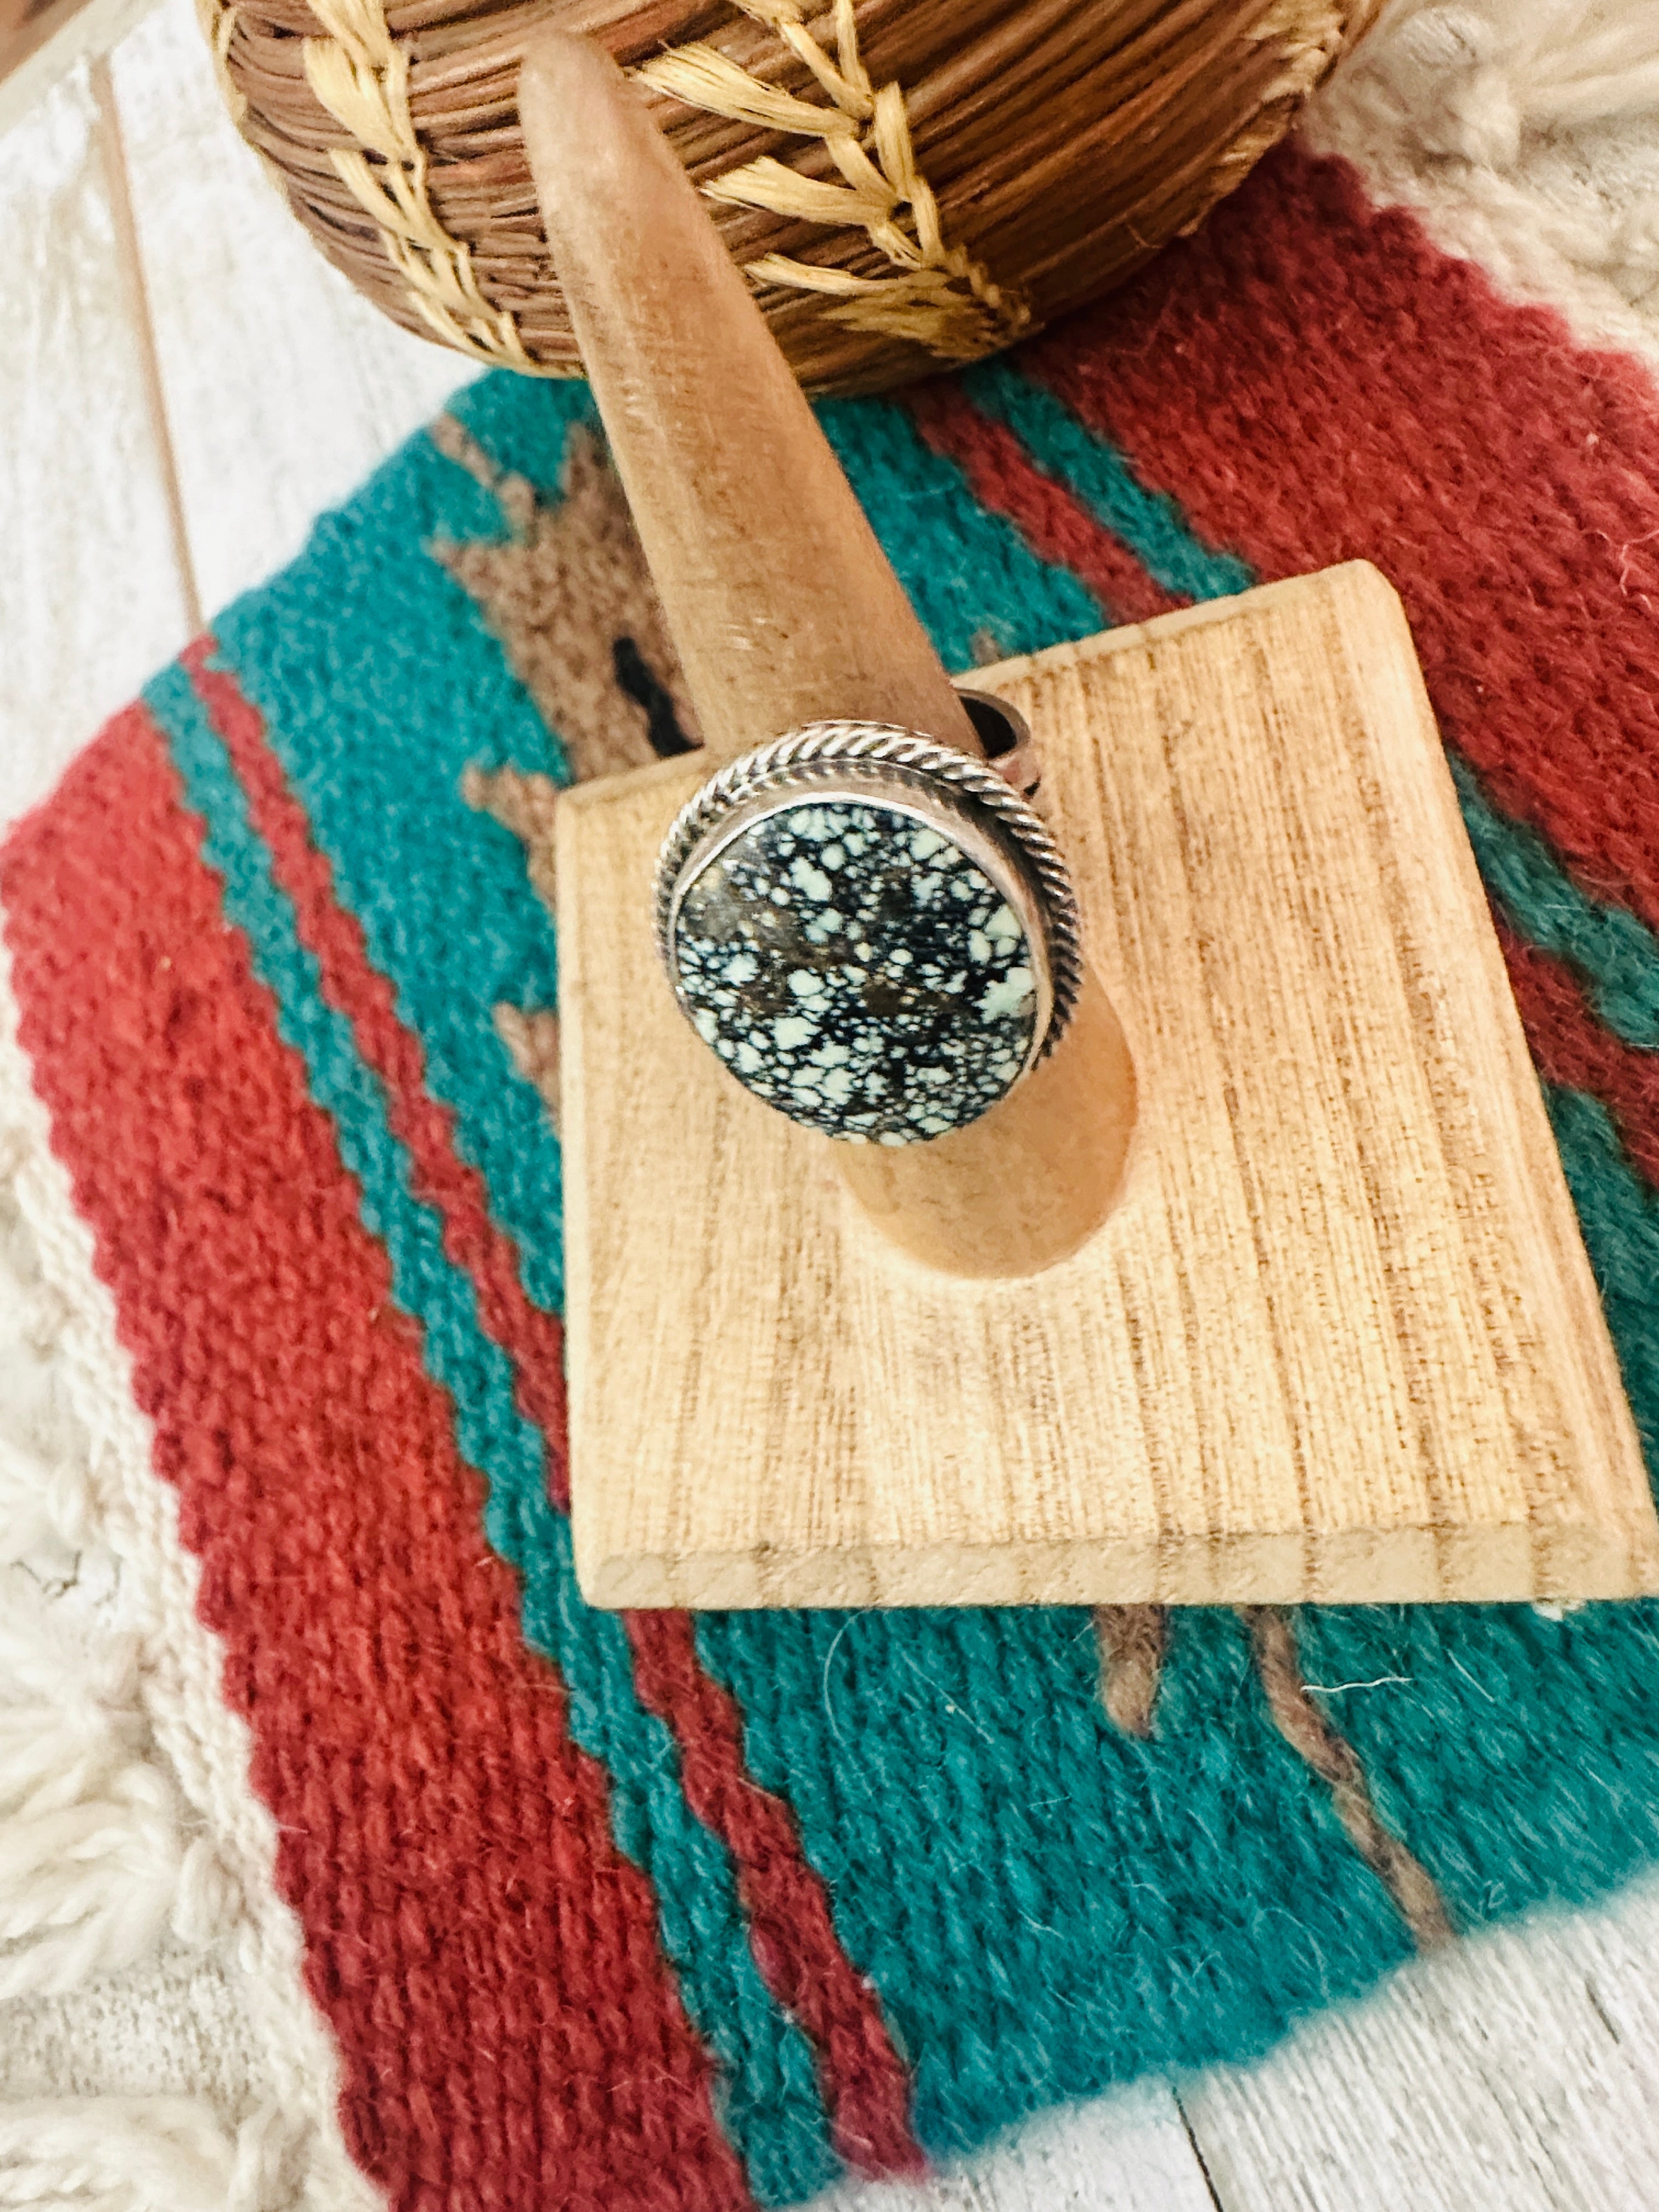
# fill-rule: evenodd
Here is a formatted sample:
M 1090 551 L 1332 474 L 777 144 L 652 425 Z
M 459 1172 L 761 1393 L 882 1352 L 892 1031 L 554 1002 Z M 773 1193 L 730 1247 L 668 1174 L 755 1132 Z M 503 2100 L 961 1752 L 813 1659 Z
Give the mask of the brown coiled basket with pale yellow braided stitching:
M 1376 0 L 201 0 L 243 135 L 394 321 L 580 369 L 515 82 L 549 20 L 648 91 L 814 392 L 995 352 L 1199 223 Z

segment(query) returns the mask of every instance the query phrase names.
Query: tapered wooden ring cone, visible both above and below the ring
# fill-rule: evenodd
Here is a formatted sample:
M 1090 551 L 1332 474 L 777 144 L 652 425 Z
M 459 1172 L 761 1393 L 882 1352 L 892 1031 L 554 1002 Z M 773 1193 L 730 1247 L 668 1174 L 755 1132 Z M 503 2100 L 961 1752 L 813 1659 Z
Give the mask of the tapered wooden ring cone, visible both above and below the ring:
M 710 768 L 836 717 L 978 754 L 741 272 L 615 62 L 549 31 L 520 73 L 520 117 Z M 931 1144 L 836 1155 L 865 1212 L 918 1259 L 951 1274 L 1026 1274 L 1102 1223 L 1133 1119 L 1128 1048 L 1091 980 L 1053 1060 L 980 1121 Z

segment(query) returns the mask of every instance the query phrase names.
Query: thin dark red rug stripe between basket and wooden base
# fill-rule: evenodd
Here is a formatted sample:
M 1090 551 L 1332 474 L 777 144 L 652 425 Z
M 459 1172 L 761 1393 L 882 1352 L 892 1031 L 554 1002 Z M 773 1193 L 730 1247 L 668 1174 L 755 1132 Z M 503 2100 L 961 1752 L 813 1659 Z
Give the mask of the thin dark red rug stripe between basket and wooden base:
M 1042 473 L 1004 422 L 980 414 L 956 385 L 914 385 L 900 396 L 927 445 L 967 476 L 980 507 L 1006 515 L 1042 560 L 1079 575 L 1115 622 L 1150 622 L 1183 604 L 1064 484 Z

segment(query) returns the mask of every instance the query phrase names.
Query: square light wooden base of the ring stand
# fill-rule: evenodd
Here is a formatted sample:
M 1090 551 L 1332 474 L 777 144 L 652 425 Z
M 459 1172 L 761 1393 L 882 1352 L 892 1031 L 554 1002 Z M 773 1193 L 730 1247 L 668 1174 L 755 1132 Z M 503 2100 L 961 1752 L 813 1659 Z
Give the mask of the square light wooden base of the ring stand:
M 1400 604 L 1367 566 L 975 677 L 1139 1084 L 1071 1259 L 896 1250 L 650 942 L 664 763 L 560 807 L 575 1562 L 599 1606 L 1659 1588 Z

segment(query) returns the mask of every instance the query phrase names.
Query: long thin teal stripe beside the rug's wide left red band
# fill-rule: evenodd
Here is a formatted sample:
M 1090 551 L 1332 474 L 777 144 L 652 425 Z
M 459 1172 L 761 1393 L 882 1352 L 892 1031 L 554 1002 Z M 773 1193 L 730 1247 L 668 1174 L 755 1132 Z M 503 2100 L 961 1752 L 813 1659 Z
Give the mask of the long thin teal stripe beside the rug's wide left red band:
M 327 588 L 327 551 L 312 560 Z M 500 684 L 498 668 L 473 672 Z M 619 1619 L 593 1613 L 577 1595 L 568 1522 L 546 1500 L 542 1442 L 513 1405 L 509 1360 L 478 1321 L 471 1283 L 445 1256 L 438 1214 L 414 1194 L 378 1077 L 345 1018 L 321 995 L 316 962 L 248 818 L 226 748 L 184 670 L 166 670 L 146 701 L 170 739 L 188 803 L 206 823 L 206 856 L 226 880 L 226 916 L 248 936 L 257 973 L 276 998 L 279 1031 L 301 1053 L 312 1097 L 334 1119 L 341 1157 L 363 1190 L 363 1219 L 387 1248 L 396 1298 L 420 1323 L 427 1369 L 453 1400 L 462 1455 L 484 1473 L 484 1531 L 524 1577 L 526 1641 L 560 1668 L 571 1732 L 611 1776 L 617 1845 L 653 1880 L 661 1944 L 679 1971 L 686 2011 L 726 2073 L 723 2124 L 750 2185 L 763 2203 L 810 2197 L 841 2163 L 810 2046 L 754 1964 L 726 1847 L 686 1807 L 675 1741 L 639 1705 Z

